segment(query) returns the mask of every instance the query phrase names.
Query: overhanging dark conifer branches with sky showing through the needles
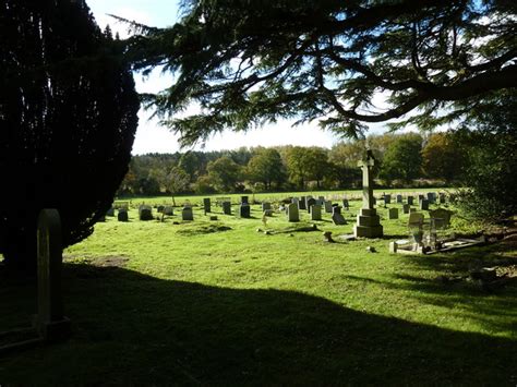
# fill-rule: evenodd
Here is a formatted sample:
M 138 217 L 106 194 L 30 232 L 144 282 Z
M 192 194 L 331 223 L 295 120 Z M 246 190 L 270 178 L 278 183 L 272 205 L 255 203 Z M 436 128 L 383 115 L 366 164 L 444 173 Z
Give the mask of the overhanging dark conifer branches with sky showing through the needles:
M 344 136 L 365 123 L 433 128 L 517 87 L 517 3 L 495 0 L 185 0 L 168 28 L 135 25 L 134 68 L 175 82 L 148 95 L 184 145 L 280 118 Z M 177 116 L 191 102 L 199 112 Z

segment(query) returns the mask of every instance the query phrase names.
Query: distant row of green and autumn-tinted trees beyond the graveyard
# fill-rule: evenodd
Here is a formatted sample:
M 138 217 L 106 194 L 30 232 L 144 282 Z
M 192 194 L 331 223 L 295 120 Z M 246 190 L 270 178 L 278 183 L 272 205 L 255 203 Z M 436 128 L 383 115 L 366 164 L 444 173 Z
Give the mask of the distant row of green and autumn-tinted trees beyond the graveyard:
M 361 186 L 357 164 L 366 146 L 383 186 L 450 184 L 465 158 L 450 133 L 372 135 L 330 149 L 312 146 L 241 147 L 133 156 L 119 195 L 333 190 Z

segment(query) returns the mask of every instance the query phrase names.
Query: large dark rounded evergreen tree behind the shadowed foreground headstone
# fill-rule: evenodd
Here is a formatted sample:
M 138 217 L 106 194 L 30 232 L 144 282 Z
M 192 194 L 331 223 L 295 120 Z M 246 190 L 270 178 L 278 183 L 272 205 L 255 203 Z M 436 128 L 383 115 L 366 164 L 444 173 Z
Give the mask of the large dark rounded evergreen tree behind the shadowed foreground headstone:
M 120 41 L 84 0 L 0 0 L 0 251 L 35 267 L 41 208 L 89 235 L 130 160 L 139 98 Z

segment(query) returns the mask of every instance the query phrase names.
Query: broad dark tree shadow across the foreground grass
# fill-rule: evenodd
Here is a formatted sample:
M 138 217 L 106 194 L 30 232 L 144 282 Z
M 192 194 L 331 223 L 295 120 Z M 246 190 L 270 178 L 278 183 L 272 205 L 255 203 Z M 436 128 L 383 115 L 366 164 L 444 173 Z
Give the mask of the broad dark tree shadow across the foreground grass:
M 290 291 L 217 288 L 84 264 L 64 271 L 71 340 L 1 359 L 2 385 L 517 380 L 512 340 L 361 313 Z M 19 292 L 4 287 L 0 301 L 12 302 Z

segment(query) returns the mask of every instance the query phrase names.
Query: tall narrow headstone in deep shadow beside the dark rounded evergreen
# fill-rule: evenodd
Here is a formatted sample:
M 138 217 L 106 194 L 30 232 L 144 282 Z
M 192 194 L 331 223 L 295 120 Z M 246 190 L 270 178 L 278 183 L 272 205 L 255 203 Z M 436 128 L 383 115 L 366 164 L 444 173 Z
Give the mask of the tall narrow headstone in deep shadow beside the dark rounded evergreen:
M 70 321 L 63 315 L 61 238 L 59 211 L 41 209 L 37 228 L 38 313 L 34 323 L 39 336 L 47 341 L 62 340 L 70 334 Z

